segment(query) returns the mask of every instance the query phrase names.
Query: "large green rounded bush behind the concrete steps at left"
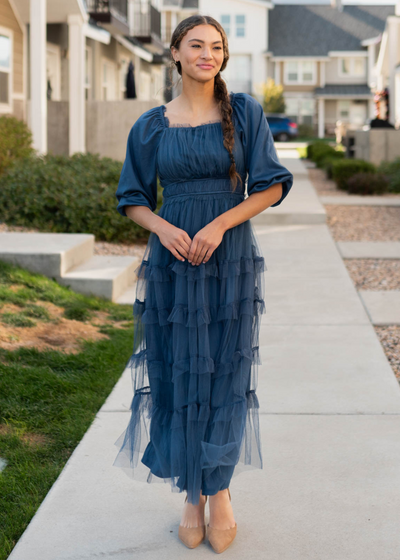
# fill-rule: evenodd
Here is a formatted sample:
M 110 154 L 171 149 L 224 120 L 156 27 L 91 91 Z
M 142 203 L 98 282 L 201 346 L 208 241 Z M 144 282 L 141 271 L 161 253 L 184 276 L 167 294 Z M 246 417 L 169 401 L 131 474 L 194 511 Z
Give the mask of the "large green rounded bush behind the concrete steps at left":
M 45 155 L 15 162 L 0 180 L 0 214 L 17 226 L 59 233 L 92 233 L 133 242 L 148 230 L 116 210 L 122 163 L 97 154 Z M 161 193 L 159 192 L 159 204 Z

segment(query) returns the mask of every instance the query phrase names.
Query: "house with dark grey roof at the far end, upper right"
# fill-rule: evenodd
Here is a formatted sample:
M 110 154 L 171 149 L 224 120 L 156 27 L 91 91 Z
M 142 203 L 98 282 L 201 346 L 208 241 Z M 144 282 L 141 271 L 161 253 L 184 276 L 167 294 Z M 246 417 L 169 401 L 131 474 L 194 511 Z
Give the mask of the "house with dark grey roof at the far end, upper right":
M 268 75 L 282 84 L 286 113 L 318 136 L 336 121 L 375 116 L 378 45 L 394 6 L 276 5 L 269 12 Z

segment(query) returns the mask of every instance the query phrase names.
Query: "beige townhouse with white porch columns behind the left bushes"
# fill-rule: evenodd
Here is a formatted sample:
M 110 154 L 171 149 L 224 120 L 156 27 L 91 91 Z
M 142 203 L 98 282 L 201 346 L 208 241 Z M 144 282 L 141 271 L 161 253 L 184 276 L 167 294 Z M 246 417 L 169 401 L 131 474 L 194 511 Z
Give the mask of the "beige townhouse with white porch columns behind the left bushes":
M 132 123 L 163 101 L 164 54 L 150 0 L 0 0 L 0 111 L 27 121 L 40 153 L 123 159 Z

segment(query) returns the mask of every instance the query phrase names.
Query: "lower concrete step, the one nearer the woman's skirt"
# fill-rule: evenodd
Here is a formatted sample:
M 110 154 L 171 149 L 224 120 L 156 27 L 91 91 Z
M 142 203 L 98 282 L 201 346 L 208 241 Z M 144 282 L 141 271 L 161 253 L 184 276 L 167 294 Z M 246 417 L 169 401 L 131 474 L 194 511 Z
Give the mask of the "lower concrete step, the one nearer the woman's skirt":
M 115 301 L 135 284 L 135 269 L 138 265 L 137 257 L 95 255 L 68 271 L 58 281 L 75 292 Z

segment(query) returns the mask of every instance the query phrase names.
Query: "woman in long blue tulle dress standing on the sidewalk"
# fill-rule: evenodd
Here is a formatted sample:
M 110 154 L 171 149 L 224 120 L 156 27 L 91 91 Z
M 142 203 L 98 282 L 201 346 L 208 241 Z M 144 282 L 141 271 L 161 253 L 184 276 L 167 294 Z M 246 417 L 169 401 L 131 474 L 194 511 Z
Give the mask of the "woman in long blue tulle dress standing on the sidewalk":
M 118 211 L 151 233 L 137 268 L 132 414 L 114 465 L 186 491 L 179 538 L 189 548 L 205 538 L 209 496 L 208 537 L 222 552 L 237 527 L 230 480 L 262 468 L 256 368 L 266 267 L 249 219 L 280 204 L 293 176 L 260 103 L 228 94 L 222 26 L 191 16 L 170 48 L 182 93 L 133 125 L 116 193 Z

